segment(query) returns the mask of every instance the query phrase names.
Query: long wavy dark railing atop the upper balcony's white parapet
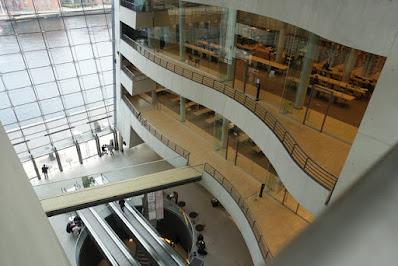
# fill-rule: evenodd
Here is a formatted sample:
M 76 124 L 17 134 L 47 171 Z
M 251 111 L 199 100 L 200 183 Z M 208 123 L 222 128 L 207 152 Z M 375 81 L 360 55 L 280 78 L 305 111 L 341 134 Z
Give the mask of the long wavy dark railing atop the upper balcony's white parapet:
M 301 146 L 297 143 L 294 137 L 270 111 L 264 108 L 256 100 L 247 96 L 245 93 L 239 90 L 235 90 L 234 88 L 227 86 L 224 83 L 217 81 L 211 77 L 185 68 L 181 64 L 176 64 L 174 62 L 164 59 L 164 57 L 155 55 L 153 51 L 135 42 L 125 34 L 122 36 L 122 39 L 126 41 L 131 47 L 133 47 L 137 52 L 139 52 L 155 64 L 185 78 L 188 78 L 194 82 L 200 83 L 218 92 L 221 92 L 226 96 L 236 100 L 244 107 L 249 109 L 251 112 L 253 112 L 261 121 L 263 121 L 268 126 L 269 129 L 271 129 L 275 136 L 281 141 L 282 145 L 288 152 L 289 156 L 293 159 L 293 161 L 315 182 L 317 182 L 319 185 L 321 185 L 330 192 L 325 204 L 328 203 L 328 199 L 330 198 L 330 194 L 333 192 L 338 177 L 330 173 L 313 159 L 311 159 L 303 150 L 303 148 L 301 148 Z

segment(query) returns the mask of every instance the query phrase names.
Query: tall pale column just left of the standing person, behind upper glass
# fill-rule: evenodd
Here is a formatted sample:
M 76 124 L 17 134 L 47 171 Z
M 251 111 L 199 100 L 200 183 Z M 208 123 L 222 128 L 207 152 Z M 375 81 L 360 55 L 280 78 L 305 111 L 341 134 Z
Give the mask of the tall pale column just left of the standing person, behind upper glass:
M 235 31 L 236 31 L 236 9 L 228 8 L 223 15 L 220 25 L 220 46 L 223 49 L 222 55 L 227 63 L 226 80 L 232 80 L 235 72 Z M 224 38 L 225 34 L 225 38 Z

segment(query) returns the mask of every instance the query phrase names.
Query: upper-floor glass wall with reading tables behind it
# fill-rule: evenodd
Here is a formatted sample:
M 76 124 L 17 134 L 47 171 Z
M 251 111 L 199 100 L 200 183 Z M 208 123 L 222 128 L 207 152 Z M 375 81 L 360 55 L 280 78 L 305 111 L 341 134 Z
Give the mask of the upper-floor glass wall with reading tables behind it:
M 142 4 L 159 6 L 154 26 L 133 30 L 121 23 L 122 38 L 244 91 L 275 114 L 352 143 L 385 57 L 243 11 L 183 1 Z

